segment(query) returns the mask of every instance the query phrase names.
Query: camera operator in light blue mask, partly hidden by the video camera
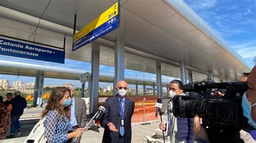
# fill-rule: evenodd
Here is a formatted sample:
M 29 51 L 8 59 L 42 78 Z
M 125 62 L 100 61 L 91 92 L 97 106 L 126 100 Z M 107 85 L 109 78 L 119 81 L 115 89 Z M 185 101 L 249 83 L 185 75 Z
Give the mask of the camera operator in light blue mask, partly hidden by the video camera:
M 248 119 L 248 124 L 256 128 L 256 66 L 253 67 L 247 78 L 248 90 L 242 97 L 243 115 Z M 200 124 L 199 116 L 194 117 L 194 142 L 208 142 L 205 128 Z

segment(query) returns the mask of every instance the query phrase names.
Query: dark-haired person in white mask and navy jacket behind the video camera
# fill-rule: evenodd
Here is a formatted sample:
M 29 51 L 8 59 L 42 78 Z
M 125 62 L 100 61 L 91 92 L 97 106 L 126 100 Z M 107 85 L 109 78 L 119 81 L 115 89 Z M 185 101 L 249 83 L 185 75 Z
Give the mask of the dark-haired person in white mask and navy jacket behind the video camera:
M 176 118 L 172 111 L 172 98 L 175 95 L 185 95 L 180 87 L 183 83 L 179 80 L 173 80 L 170 83 L 169 95 L 170 101 L 167 103 L 167 123 L 160 123 L 159 128 L 170 135 L 170 142 L 193 142 L 193 120 L 190 118 Z

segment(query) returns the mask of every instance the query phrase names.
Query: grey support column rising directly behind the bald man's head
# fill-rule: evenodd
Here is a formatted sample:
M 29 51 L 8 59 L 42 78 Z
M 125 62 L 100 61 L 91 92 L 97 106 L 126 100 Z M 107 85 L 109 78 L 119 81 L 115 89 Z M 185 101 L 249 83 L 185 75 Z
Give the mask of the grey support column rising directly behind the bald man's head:
M 117 28 L 116 41 L 114 41 L 114 85 L 124 80 L 124 35 L 122 32 L 120 28 Z

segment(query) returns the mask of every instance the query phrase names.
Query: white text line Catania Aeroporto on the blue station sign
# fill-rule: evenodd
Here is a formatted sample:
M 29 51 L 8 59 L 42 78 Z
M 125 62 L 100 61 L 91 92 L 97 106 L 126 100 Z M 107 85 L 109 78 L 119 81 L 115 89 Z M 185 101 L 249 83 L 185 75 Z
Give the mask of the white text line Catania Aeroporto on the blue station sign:
M 13 44 L 11 42 L 4 42 L 3 40 L 0 40 L 0 45 L 6 45 L 6 46 L 11 46 L 11 47 L 17 47 L 17 48 L 24 48 L 24 46 L 21 45 L 21 44 Z M 32 51 L 43 52 L 43 53 L 50 53 L 50 54 L 52 53 L 52 51 L 49 50 L 49 49 L 35 48 L 35 47 L 30 47 L 28 45 L 26 45 L 24 49 L 30 49 Z

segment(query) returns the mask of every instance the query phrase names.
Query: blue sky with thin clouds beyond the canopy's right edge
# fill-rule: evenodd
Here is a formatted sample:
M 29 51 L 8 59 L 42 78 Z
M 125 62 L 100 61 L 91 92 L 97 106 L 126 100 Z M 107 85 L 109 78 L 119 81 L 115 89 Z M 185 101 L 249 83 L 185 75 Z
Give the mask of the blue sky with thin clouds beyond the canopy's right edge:
M 184 0 L 245 61 L 255 65 L 255 0 Z

